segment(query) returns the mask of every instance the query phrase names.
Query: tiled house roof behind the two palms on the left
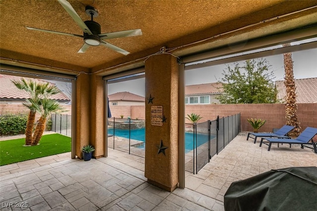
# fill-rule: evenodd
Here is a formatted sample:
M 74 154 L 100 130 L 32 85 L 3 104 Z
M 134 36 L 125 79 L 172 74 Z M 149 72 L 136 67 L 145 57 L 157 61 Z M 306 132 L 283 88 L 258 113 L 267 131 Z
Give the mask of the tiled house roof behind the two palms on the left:
M 47 81 L 35 79 L 35 78 L 25 78 L 26 80 L 32 80 L 37 83 L 47 83 Z M 19 76 L 12 76 L 12 75 L 2 75 L 0 74 L 0 99 L 17 99 L 17 100 L 24 100 L 30 98 L 29 94 L 24 91 L 18 89 L 13 83 L 12 80 L 21 80 Z M 54 85 L 53 83 L 49 82 L 50 84 Z M 58 89 L 58 88 L 57 88 Z M 70 101 L 70 99 L 62 92 L 52 95 L 50 99 L 56 101 Z

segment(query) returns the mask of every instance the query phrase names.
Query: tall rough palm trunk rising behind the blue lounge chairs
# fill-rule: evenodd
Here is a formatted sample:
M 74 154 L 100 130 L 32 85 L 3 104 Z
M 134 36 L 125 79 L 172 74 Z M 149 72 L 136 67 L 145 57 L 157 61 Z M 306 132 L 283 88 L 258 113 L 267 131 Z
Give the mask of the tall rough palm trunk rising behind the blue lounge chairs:
M 291 46 L 290 43 L 283 44 L 283 47 Z M 286 105 L 285 105 L 285 118 L 286 125 L 294 126 L 295 128 L 289 133 L 290 136 L 298 136 L 300 134 L 301 127 L 297 116 L 297 104 L 296 104 L 296 87 L 293 72 L 293 59 L 292 53 L 284 53 L 284 69 L 286 87 Z

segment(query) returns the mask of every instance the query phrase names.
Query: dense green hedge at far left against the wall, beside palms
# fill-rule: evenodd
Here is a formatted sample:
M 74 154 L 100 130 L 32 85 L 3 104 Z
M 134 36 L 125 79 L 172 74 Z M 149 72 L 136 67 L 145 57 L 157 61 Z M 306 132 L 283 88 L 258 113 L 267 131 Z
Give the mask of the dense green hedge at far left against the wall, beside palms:
M 27 113 L 5 113 L 0 115 L 0 136 L 24 134 Z

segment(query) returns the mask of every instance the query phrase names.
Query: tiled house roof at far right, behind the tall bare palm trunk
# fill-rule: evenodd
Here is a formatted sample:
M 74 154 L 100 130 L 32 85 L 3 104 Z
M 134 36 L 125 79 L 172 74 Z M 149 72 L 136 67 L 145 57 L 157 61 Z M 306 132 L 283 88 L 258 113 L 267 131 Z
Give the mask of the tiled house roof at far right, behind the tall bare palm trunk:
M 275 81 L 277 99 L 285 103 L 286 88 L 284 81 Z M 296 103 L 317 103 L 317 78 L 295 79 Z

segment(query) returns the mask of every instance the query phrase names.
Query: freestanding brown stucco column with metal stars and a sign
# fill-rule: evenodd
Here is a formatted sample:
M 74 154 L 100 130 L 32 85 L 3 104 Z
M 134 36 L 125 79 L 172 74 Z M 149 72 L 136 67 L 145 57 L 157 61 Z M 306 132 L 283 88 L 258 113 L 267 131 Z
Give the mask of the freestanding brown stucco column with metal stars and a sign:
M 151 56 L 145 62 L 145 177 L 170 192 L 178 184 L 178 68 L 177 58 L 170 54 Z M 161 126 L 153 121 L 159 106 Z

